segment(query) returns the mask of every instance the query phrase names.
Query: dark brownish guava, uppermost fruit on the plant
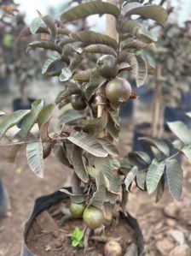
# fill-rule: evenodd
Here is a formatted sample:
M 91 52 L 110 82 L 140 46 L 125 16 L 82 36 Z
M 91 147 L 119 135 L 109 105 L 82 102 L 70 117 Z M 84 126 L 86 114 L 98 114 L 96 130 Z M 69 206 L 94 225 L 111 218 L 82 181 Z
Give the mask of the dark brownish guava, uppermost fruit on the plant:
M 116 77 L 119 72 L 119 64 L 112 55 L 103 55 L 97 60 L 96 71 L 102 77 L 111 79 Z

